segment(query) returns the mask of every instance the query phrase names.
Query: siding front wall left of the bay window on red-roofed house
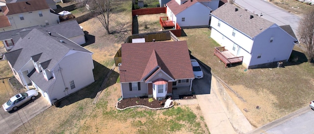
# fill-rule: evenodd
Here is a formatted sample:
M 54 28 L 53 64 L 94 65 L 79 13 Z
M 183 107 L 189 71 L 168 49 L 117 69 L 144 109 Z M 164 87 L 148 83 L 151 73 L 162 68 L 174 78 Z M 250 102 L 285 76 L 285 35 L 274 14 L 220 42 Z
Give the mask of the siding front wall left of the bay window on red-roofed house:
M 145 82 L 141 82 L 141 90 L 132 90 L 130 91 L 129 83 L 121 83 L 121 90 L 122 90 L 122 97 L 123 98 L 133 98 L 133 97 L 140 97 L 140 96 L 147 96 L 148 95 L 148 86 Z

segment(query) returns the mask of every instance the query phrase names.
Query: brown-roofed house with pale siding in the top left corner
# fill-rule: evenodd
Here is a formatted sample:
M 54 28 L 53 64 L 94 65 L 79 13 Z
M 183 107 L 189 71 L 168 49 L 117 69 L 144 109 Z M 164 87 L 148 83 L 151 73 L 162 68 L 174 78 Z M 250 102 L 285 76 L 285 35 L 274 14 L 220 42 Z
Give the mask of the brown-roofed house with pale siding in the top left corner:
M 4 15 L 1 17 L 1 22 L 5 24 L 0 24 L 0 32 L 60 22 L 59 15 L 50 12 L 46 0 L 6 3 L 6 6 L 2 6 L 1 9 Z

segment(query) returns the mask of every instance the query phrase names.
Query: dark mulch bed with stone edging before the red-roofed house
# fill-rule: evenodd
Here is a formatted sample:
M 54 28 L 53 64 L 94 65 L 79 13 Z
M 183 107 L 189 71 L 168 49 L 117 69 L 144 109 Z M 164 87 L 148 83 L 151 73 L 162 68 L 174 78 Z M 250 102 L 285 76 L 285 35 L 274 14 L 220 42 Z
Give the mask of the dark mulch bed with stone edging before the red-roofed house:
M 166 98 L 168 98 L 168 97 L 166 97 Z M 119 109 L 124 109 L 124 108 L 131 107 L 131 106 L 143 105 L 143 106 L 147 106 L 147 107 L 156 109 L 156 108 L 163 108 L 163 106 L 167 100 L 167 99 L 162 99 L 162 100 L 158 101 L 158 100 L 153 98 L 154 101 L 149 102 L 148 99 L 149 98 L 147 98 L 147 97 L 136 97 L 136 98 L 122 99 L 120 102 L 118 102 L 117 107 Z M 160 105 L 159 102 L 162 102 L 162 105 Z M 172 104 L 172 102 L 171 102 L 171 104 Z

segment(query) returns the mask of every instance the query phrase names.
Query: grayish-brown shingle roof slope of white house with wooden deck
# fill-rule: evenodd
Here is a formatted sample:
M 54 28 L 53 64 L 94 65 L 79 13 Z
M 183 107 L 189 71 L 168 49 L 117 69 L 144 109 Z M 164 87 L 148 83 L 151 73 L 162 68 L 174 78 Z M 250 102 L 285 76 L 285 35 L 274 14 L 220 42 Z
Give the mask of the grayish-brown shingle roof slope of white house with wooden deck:
M 237 8 L 238 11 L 235 11 L 235 8 Z M 254 38 L 265 29 L 275 24 L 230 3 L 225 3 L 220 6 L 213 11 L 211 15 L 228 23 L 251 38 Z M 251 15 L 253 15 L 254 18 L 250 19 Z

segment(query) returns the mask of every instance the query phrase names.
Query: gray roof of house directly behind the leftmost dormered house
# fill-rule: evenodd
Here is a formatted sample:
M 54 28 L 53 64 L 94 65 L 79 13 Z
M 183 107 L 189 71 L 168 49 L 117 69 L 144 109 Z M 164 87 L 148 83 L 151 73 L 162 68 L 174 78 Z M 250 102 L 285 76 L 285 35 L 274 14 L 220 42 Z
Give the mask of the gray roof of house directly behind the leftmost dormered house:
M 84 32 L 80 29 L 77 21 L 62 22 L 58 24 L 48 26 L 32 26 L 12 31 L 6 31 L 0 33 L 0 40 L 13 39 L 16 43 L 20 38 L 25 37 L 32 29 L 37 28 L 47 32 L 58 33 L 66 38 L 72 38 L 80 35 L 84 35 Z

